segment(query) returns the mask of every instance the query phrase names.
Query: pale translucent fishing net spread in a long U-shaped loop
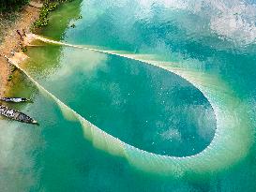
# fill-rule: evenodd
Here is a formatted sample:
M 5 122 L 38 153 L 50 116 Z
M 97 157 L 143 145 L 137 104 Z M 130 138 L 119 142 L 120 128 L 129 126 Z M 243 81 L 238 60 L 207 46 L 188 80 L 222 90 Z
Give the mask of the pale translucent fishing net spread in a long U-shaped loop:
M 186 81 L 189 81 L 199 89 L 203 93 L 203 96 L 210 102 L 216 115 L 217 129 L 215 137 L 201 153 L 184 157 L 149 153 L 133 147 L 102 131 L 97 126 L 92 125 L 84 119 L 83 116 L 76 111 L 73 111 L 65 103 L 59 100 L 57 96 L 53 96 L 52 93 L 42 87 L 25 69 L 14 64 L 38 86 L 39 90 L 53 98 L 67 118 L 75 118 L 81 123 L 83 126 L 84 138 L 86 140 L 91 140 L 94 146 L 98 149 L 108 152 L 111 155 L 125 157 L 131 165 L 138 169 L 158 174 L 173 175 L 176 177 L 223 170 L 227 166 L 234 165 L 248 154 L 248 149 L 253 138 L 251 137 L 252 134 L 248 123 L 248 116 L 245 112 L 247 106 L 241 104 L 238 98 L 233 96 L 232 90 L 223 81 L 220 81 L 218 77 L 202 73 L 201 71 L 184 68 L 182 66 L 174 66 L 171 62 L 150 60 L 147 59 L 145 55 L 125 54 L 117 51 L 94 49 L 82 45 L 70 45 L 68 43 L 54 41 L 33 34 L 30 34 L 29 36 L 46 43 L 84 49 L 92 52 L 112 54 L 136 60 L 141 62 L 142 65 L 152 65 L 163 68 L 182 77 Z M 239 108 L 234 108 L 234 106 L 237 106 L 237 103 L 240 103 Z M 240 118 L 237 118 L 237 116 Z M 245 136 L 248 140 L 243 139 Z

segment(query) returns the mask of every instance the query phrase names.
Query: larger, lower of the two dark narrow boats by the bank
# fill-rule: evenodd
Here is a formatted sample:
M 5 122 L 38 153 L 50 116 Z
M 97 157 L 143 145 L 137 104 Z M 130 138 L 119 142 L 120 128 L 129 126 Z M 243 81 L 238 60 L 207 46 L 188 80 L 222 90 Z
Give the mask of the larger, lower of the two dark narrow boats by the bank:
M 17 111 L 8 108 L 4 105 L 0 105 L 0 114 L 15 121 L 23 122 L 26 124 L 38 125 L 38 122 L 21 111 Z

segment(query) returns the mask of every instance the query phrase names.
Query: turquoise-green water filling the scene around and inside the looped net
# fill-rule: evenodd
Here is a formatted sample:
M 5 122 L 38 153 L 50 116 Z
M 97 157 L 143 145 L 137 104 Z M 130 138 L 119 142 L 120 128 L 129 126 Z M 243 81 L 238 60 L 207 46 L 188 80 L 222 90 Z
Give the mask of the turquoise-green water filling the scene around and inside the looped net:
M 41 35 L 121 56 L 44 44 L 23 65 L 84 119 L 155 155 L 124 144 L 125 155 L 113 155 L 118 143 L 88 138 L 68 107 L 17 72 L 9 96 L 32 97 L 15 108 L 40 126 L 1 120 L 1 191 L 254 191 L 253 36 L 210 28 L 214 8 L 206 6 L 209 19 L 178 2 L 68 3 Z M 139 56 L 167 70 L 132 59 Z

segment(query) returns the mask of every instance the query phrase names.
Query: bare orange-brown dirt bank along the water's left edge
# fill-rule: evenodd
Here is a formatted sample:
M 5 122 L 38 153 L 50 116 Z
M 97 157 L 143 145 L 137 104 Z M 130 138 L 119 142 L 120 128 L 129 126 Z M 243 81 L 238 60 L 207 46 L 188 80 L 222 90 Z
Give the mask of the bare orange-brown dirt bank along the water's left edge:
M 30 27 L 39 17 L 39 7 L 33 5 L 27 5 L 23 7 L 23 10 L 19 13 L 19 17 L 10 24 L 3 37 L 3 42 L 0 45 L 0 96 L 5 96 L 8 91 L 8 87 L 11 81 L 8 81 L 8 77 L 11 75 L 11 66 L 3 55 L 11 56 L 11 52 L 21 51 L 21 39 L 16 30 L 24 30 L 26 33 L 30 32 Z

